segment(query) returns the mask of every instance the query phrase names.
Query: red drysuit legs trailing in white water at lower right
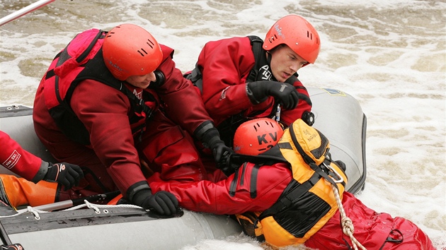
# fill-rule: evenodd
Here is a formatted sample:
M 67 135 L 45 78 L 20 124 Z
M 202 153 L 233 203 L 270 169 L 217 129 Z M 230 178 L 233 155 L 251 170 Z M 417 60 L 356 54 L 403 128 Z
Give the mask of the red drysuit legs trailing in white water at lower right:
M 377 213 L 348 192 L 343 194 L 342 203 L 346 215 L 353 222 L 353 236 L 365 248 L 434 250 L 428 235 L 410 220 L 392 218 L 388 213 Z M 352 246 L 350 238 L 342 232 L 340 219 L 338 211 L 321 230 L 305 242 L 305 246 L 321 250 L 348 249 L 347 244 Z

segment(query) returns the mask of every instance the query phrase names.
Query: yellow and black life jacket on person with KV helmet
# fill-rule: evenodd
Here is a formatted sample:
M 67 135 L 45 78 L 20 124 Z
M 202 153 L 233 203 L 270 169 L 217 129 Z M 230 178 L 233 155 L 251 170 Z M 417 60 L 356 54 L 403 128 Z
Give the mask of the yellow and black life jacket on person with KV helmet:
M 263 213 L 236 215 L 248 235 L 272 246 L 298 245 L 326 224 L 338 209 L 331 185 L 342 199 L 347 184 L 341 164 L 331 160 L 329 146 L 328 139 L 302 119 L 285 129 L 267 154 L 280 153 L 292 167 L 293 180 Z

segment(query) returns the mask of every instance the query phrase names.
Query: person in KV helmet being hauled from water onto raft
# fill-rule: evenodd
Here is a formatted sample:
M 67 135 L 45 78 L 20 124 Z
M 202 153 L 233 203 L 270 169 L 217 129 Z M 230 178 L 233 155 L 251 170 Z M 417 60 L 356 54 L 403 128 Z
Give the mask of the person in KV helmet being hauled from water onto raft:
M 316 143 L 318 136 L 323 137 L 316 129 L 311 130 L 311 127 L 308 128 L 302 130 L 306 134 L 300 133 L 299 137 L 307 137 L 308 144 Z M 295 131 L 299 130 L 295 129 Z M 263 118 L 246 121 L 236 131 L 234 137 L 235 153 L 244 155 L 259 155 L 262 153 L 264 156 L 265 153 L 273 151 L 270 148 L 280 148 L 281 151 L 282 148 L 289 150 L 290 148 L 287 148 L 286 144 L 284 144 L 286 142 L 284 137 L 282 136 L 280 141 L 278 139 L 283 133 L 281 126 L 271 119 Z M 259 138 L 262 138 L 262 140 L 259 140 Z M 319 141 L 324 140 L 320 139 Z M 278 148 L 275 147 L 276 144 L 278 144 Z M 326 140 L 326 145 L 328 145 L 328 140 Z M 319 148 L 319 144 L 316 148 Z M 150 186 L 154 191 L 164 190 L 171 192 L 178 199 L 180 206 L 188 210 L 219 215 L 241 214 L 248 216 L 250 214 L 251 217 L 248 216 L 245 219 L 256 223 L 256 227 L 254 227 L 256 229 L 251 231 L 256 232 L 256 234 L 251 236 L 256 237 L 258 240 L 265 239 L 265 243 L 273 247 L 304 244 L 311 249 L 353 249 L 352 240 L 343 234 L 341 214 L 337 205 L 334 206 L 334 209 L 332 208 L 332 214 L 326 215 L 326 217 L 321 219 L 326 210 L 318 209 L 321 207 L 325 208 L 326 203 L 320 203 L 321 198 L 319 197 L 325 197 L 326 199 L 328 197 L 327 201 L 333 200 L 333 198 L 330 198 L 333 197 L 333 191 L 331 189 L 314 189 L 316 184 L 314 186 L 311 184 L 311 193 L 307 191 L 307 193 L 301 194 L 299 197 L 304 198 L 293 200 L 288 207 L 285 207 L 287 209 L 279 206 L 276 211 L 281 213 L 273 213 L 274 216 L 269 217 L 273 218 L 274 223 L 271 224 L 270 220 L 263 221 L 268 219 L 262 218 L 261 213 L 263 211 L 270 209 L 272 206 L 281 205 L 283 204 L 281 202 L 285 201 L 285 198 L 282 198 L 282 196 L 289 194 L 285 193 L 285 189 L 288 188 L 287 190 L 290 190 L 292 181 L 295 181 L 292 174 L 295 167 L 301 167 L 298 168 L 299 173 L 295 173 L 295 176 L 298 178 L 305 176 L 305 172 L 311 171 L 308 165 L 304 163 L 304 157 L 299 153 L 292 155 L 292 157 L 300 159 L 301 162 L 297 161 L 291 164 L 289 163 L 290 160 L 287 160 L 285 162 L 266 163 L 265 165 L 245 162 L 239 169 L 236 169 L 234 174 L 231 174 L 225 180 L 217 182 L 180 183 L 178 181 L 162 181 L 158 178 L 158 174 L 154 174 L 151 177 Z M 293 159 L 292 157 L 288 155 L 287 159 Z M 324 157 L 326 160 L 326 155 Z M 336 162 L 338 165 L 343 165 L 341 162 Z M 307 168 L 302 166 L 307 166 Z M 320 181 L 326 180 L 320 179 Z M 299 185 L 304 186 L 306 183 L 307 181 Z M 341 187 L 341 184 L 338 184 L 338 186 Z M 388 213 L 377 213 L 371 208 L 367 208 L 353 194 L 343 191 L 343 188 L 338 188 L 338 190 L 341 193 L 342 206 L 346 216 L 350 218 L 354 227 L 353 236 L 366 249 L 434 249 L 428 235 L 410 220 L 400 217 L 392 218 Z M 316 199 L 314 198 L 315 194 L 318 196 Z M 298 205 L 294 205 L 295 203 Z M 287 213 L 290 210 L 292 210 L 292 213 Z M 286 216 L 284 214 L 287 214 L 288 220 L 281 220 Z M 289 219 L 290 216 L 292 219 Z M 260 222 L 256 219 L 259 219 Z M 244 225 L 242 222 L 246 222 L 246 220 L 239 221 Z M 304 234 L 303 237 L 302 234 L 300 238 L 296 236 L 297 234 L 291 234 L 288 230 L 284 230 L 284 227 L 281 227 L 282 224 L 279 226 L 275 223 L 282 222 L 286 224 L 287 221 L 291 221 L 289 223 L 292 225 L 290 230 L 301 232 L 301 227 L 304 227 L 305 223 L 316 223 L 321 220 L 324 220 L 321 225 L 318 226 L 316 224 L 316 226 L 311 228 L 312 231 L 308 230 L 312 226 L 310 225 L 307 231 L 304 231 L 307 234 Z M 250 225 L 252 228 L 253 225 Z M 246 227 L 244 228 L 246 229 Z M 249 231 L 244 230 L 244 232 Z

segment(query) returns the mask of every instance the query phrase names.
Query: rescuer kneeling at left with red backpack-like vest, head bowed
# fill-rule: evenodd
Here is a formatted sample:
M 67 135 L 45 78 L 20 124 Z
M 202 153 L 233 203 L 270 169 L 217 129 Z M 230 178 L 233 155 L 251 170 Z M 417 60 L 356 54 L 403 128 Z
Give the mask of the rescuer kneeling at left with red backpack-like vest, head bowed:
M 195 141 L 218 162 L 231 149 L 219 138 L 173 49 L 137 25 L 86 30 L 60 52 L 35 95 L 33 121 L 57 160 L 86 167 L 86 181 L 60 200 L 116 190 L 164 215 L 178 202 L 151 192 L 144 166 L 165 180 L 207 178 Z

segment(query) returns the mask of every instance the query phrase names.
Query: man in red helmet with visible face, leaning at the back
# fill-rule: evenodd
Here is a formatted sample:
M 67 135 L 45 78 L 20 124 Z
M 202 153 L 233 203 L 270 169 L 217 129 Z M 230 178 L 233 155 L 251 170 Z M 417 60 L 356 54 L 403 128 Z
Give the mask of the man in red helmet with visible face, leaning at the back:
M 299 118 L 314 123 L 297 71 L 314 64 L 320 46 L 316 29 L 301 16 L 289 15 L 270 28 L 264 41 L 251 36 L 207 42 L 185 77 L 200 88 L 207 112 L 232 145 L 237 126 L 248 119 L 280 114 L 285 126 Z

